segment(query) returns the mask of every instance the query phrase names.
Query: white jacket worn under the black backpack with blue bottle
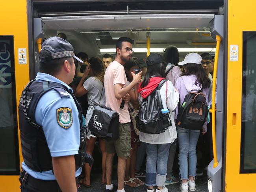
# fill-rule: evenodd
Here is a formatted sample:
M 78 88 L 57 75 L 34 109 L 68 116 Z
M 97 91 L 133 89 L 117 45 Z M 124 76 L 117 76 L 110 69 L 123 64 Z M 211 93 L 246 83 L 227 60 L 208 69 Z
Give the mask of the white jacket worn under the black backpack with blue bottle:
M 167 94 L 166 94 L 166 86 L 167 86 Z M 173 111 L 176 109 L 178 105 L 179 93 L 175 92 L 173 83 L 171 83 L 171 81 L 167 81 L 161 87 L 160 95 L 161 95 L 161 102 L 163 104 L 163 108 L 169 109 L 170 111 L 172 126 L 166 129 L 165 132 L 160 134 L 149 134 L 149 133 L 139 132 L 139 140 L 142 142 L 150 143 L 150 144 L 165 144 L 165 143 L 172 143 L 177 138 L 176 126 L 174 121 L 175 113 Z M 139 103 L 141 103 L 141 101 L 142 101 L 142 97 L 141 97 L 141 94 L 139 94 Z

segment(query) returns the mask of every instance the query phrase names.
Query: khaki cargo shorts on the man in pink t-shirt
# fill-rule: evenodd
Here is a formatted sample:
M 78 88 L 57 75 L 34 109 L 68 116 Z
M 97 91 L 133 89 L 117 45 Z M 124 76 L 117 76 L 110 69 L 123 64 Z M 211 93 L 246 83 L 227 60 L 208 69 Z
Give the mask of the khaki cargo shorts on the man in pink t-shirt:
M 129 157 L 131 150 L 131 127 L 129 123 L 120 124 L 119 139 L 106 141 L 107 153 L 117 153 L 117 157 Z

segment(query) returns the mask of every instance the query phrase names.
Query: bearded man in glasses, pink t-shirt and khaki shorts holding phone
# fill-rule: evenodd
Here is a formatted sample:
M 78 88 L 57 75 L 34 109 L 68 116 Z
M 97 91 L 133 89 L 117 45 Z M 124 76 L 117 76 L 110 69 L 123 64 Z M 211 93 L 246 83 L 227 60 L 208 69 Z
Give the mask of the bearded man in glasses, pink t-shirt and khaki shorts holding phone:
M 124 64 L 132 59 L 132 39 L 121 37 L 116 44 L 117 55 L 111 62 L 104 75 L 104 87 L 106 95 L 106 106 L 119 113 L 122 100 L 125 101 L 124 108 L 119 114 L 119 139 L 113 142 L 106 142 L 106 179 L 107 186 L 105 192 L 124 192 L 124 175 L 126 167 L 126 158 L 130 156 L 131 149 L 131 130 L 130 114 L 128 111 L 128 101 L 130 95 L 134 94 L 132 88 L 137 86 L 141 80 L 141 73 L 137 75 L 132 73 L 133 81 L 126 86 L 126 75 Z M 118 156 L 118 188 L 112 184 L 112 164 L 113 157 Z

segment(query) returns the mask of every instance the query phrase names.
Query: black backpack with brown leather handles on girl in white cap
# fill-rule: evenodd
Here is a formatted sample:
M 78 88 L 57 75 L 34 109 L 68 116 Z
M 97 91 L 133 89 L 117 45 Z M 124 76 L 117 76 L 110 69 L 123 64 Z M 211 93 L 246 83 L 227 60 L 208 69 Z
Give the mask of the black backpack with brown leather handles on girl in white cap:
M 205 95 L 201 91 L 189 92 L 178 110 L 177 125 L 184 129 L 200 130 L 208 111 Z

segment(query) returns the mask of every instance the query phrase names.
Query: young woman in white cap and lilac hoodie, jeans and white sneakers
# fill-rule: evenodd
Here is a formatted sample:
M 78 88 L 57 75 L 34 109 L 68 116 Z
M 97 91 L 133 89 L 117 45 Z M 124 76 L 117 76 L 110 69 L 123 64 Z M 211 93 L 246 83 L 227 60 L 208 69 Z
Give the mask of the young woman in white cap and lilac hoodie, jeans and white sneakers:
M 175 88 L 180 92 L 180 103 L 184 102 L 189 92 L 202 92 L 208 103 L 208 89 L 211 85 L 210 79 L 202 67 L 202 57 L 196 53 L 187 54 L 184 61 L 178 63 L 184 66 L 184 73 L 176 80 Z M 178 109 L 176 109 L 176 115 Z M 195 176 L 197 173 L 197 141 L 200 130 L 184 129 L 177 125 L 179 142 L 179 165 L 180 165 L 180 190 L 182 192 L 195 191 Z M 207 131 L 207 122 L 202 127 L 202 134 Z M 189 162 L 189 163 L 188 163 Z

